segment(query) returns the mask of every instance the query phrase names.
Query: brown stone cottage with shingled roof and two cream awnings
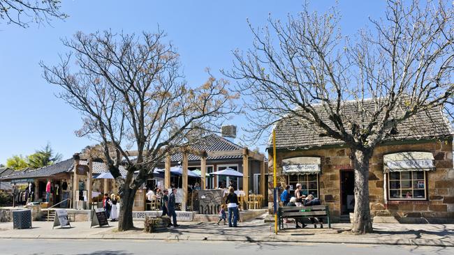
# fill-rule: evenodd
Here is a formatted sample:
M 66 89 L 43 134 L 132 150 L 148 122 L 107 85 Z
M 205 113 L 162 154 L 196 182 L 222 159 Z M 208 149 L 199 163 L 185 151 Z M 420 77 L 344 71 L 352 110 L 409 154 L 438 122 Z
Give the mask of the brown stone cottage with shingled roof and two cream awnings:
M 333 221 L 348 221 L 354 208 L 351 152 L 342 141 L 319 137 L 312 128 L 281 120 L 275 128 L 279 185 L 302 185 L 330 208 Z M 417 114 L 374 150 L 369 201 L 374 216 L 401 222 L 454 220 L 453 131 L 441 109 Z M 272 200 L 272 144 L 269 200 Z M 268 206 L 272 209 L 272 203 Z

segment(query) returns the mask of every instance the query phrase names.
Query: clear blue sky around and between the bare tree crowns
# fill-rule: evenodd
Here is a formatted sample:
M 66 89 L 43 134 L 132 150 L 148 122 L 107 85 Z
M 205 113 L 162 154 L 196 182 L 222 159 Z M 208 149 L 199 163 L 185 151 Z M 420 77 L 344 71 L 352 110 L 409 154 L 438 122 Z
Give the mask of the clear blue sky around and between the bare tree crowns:
M 66 52 L 59 38 L 76 31 L 90 33 L 112 29 L 125 33 L 156 31 L 159 24 L 178 48 L 184 74 L 190 84 L 202 84 L 211 68 L 228 69 L 233 49 L 247 49 L 254 26 L 266 24 L 268 14 L 284 19 L 301 10 L 303 1 L 89 1 L 64 0 L 62 10 L 70 17 L 54 20 L 51 26 L 31 25 L 28 29 L 0 24 L 0 163 L 11 155 L 29 155 L 50 142 L 52 148 L 71 157 L 95 141 L 75 137 L 80 114 L 55 97 L 59 89 L 41 77 L 39 61 L 57 63 Z M 342 31 L 353 34 L 367 25 L 367 18 L 379 17 L 384 1 L 341 1 Z M 335 1 L 309 1 L 312 10 L 324 12 Z M 241 116 L 232 123 L 244 127 Z M 254 148 L 255 146 L 250 146 Z M 264 146 L 260 146 L 263 151 Z

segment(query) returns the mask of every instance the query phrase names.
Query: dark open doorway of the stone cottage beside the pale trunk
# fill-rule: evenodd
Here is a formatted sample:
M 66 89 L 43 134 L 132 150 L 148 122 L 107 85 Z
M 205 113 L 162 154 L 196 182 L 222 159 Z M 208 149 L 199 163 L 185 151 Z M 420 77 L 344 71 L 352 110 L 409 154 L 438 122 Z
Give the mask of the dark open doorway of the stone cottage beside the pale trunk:
M 348 215 L 355 209 L 355 173 L 353 170 L 340 171 L 341 215 Z

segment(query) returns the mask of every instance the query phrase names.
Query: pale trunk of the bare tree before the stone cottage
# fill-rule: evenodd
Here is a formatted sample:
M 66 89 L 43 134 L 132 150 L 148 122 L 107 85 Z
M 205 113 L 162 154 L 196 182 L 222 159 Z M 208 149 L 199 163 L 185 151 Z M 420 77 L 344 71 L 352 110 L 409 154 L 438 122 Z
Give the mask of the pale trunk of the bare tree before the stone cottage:
M 352 149 L 355 168 L 355 212 L 353 233 L 372 233 L 372 219 L 369 208 L 369 160 L 372 151 Z

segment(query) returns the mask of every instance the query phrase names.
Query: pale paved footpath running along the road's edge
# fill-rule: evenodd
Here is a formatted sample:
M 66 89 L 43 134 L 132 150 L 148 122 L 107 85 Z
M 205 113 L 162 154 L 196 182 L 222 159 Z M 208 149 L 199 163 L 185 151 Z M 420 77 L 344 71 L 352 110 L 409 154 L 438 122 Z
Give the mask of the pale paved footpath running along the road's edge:
M 117 222 L 90 229 L 89 222 L 71 222 L 71 229 L 52 229 L 52 222 L 33 222 L 32 229 L 13 229 L 12 222 L 0 223 L 0 238 L 23 239 L 129 239 L 242 242 L 351 243 L 365 245 L 417 245 L 454 247 L 454 224 L 374 224 L 374 233 L 353 235 L 350 224 L 332 224 L 332 229 L 285 229 L 273 233 L 274 223 L 263 219 L 243 222 L 237 228 L 214 223 L 180 222 L 177 229 L 162 233 L 145 233 L 143 222 L 136 230 L 118 232 Z M 288 224 L 293 227 L 293 224 Z

